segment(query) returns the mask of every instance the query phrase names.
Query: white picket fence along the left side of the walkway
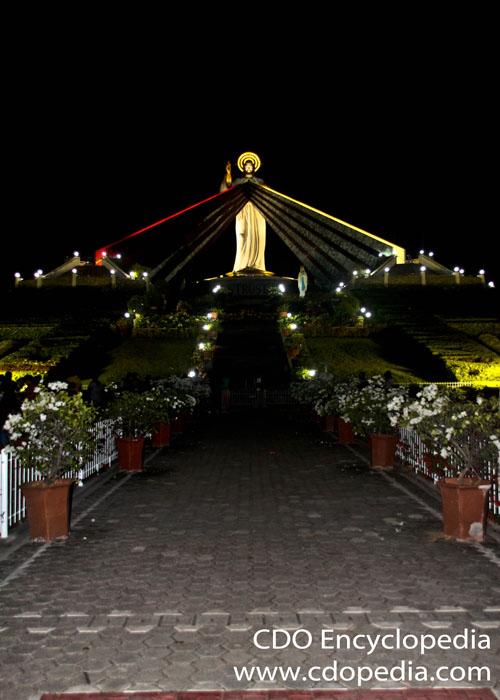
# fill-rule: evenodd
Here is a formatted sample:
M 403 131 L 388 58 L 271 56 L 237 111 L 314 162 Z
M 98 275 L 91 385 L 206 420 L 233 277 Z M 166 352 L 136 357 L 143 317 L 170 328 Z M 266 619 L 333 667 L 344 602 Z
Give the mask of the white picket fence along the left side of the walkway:
M 67 478 L 78 479 L 80 483 L 97 474 L 105 465 L 116 458 L 113 422 L 98 421 L 94 425 L 95 451 L 80 469 L 67 472 Z M 9 528 L 26 517 L 26 506 L 21 494 L 21 485 L 41 478 L 35 469 L 22 466 L 18 459 L 3 449 L 0 452 L 0 538 L 9 534 Z

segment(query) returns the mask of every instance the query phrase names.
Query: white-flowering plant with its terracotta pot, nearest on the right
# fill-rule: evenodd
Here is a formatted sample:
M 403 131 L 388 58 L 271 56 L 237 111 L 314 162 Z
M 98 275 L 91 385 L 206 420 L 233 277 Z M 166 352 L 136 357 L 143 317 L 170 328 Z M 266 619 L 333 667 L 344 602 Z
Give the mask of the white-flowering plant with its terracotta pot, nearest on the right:
M 439 457 L 434 467 L 441 473 L 444 534 L 482 541 L 494 478 L 487 465 L 497 465 L 500 455 L 498 401 L 482 396 L 470 401 L 431 384 L 403 408 L 402 425 L 413 428 Z

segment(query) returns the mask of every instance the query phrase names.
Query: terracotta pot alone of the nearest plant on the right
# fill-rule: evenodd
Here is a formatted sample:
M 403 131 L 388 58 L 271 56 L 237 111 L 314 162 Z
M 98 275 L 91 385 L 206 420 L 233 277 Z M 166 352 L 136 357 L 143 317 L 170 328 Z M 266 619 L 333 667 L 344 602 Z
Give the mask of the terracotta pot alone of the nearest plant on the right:
M 482 542 L 486 532 L 488 491 L 491 482 L 447 477 L 439 483 L 446 537 Z

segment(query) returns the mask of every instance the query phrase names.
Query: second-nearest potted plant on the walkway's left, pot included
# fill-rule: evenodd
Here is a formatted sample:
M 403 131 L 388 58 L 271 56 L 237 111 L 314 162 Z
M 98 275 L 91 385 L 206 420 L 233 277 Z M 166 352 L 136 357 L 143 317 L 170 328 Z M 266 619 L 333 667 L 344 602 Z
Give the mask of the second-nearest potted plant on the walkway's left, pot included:
M 115 421 L 118 468 L 141 471 L 144 440 L 154 423 L 154 399 L 150 392 L 117 391 L 107 415 Z

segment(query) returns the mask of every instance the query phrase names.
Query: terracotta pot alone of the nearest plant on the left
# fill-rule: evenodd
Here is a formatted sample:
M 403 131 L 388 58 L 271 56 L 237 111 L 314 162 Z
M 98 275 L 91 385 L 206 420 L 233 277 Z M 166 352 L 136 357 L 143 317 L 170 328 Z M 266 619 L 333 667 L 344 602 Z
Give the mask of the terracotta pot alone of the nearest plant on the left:
M 73 479 L 58 479 L 53 484 L 30 481 L 21 486 L 32 540 L 50 542 L 69 536 L 70 496 Z

